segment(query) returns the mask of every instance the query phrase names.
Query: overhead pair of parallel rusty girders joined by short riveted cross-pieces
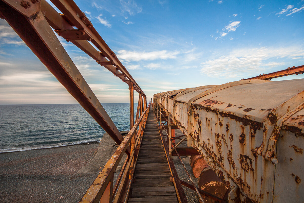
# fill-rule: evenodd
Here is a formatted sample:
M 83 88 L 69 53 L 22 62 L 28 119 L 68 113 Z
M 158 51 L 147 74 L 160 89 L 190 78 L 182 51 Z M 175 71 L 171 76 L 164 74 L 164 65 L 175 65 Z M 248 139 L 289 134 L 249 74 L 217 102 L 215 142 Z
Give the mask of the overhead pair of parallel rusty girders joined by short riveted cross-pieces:
M 42 0 L 43 2 L 44 0 Z M 123 64 L 119 61 L 119 59 L 116 57 L 116 54 L 109 48 L 109 46 L 105 43 L 105 41 L 100 37 L 98 32 L 93 27 L 92 23 L 88 20 L 88 18 L 85 16 L 85 13 L 82 12 L 79 7 L 75 4 L 74 1 L 67 1 L 67 0 L 52 0 L 51 1 L 62 13 L 63 15 L 60 15 L 61 18 L 59 18 L 58 14 L 56 14 L 54 11 L 52 12 L 53 15 L 48 15 L 48 12 L 50 8 L 48 7 L 46 10 L 46 16 L 49 19 L 49 21 L 53 22 L 57 28 L 54 28 L 59 34 L 65 33 L 64 36 L 69 37 L 66 38 L 66 40 L 70 40 L 71 34 L 67 34 L 67 32 L 71 33 L 77 33 L 77 31 L 74 31 L 73 28 L 76 27 L 78 30 L 81 30 L 82 34 L 84 34 L 85 37 L 87 37 L 88 41 L 91 41 L 92 44 L 95 45 L 95 47 L 98 48 L 100 51 L 100 54 L 102 57 L 106 57 L 110 62 L 107 62 L 104 58 L 101 60 L 101 65 L 104 65 L 105 68 L 109 68 L 111 72 L 113 72 L 114 75 L 117 75 L 120 79 L 122 79 L 124 82 L 128 83 L 132 82 L 133 85 L 136 87 L 136 91 L 138 93 L 142 93 L 144 96 L 146 96 L 140 86 L 136 83 L 136 81 L 133 79 L 133 77 L 130 75 L 130 73 L 127 71 L 127 69 L 123 66 Z M 46 5 L 46 4 L 42 4 Z M 42 8 L 43 9 L 43 8 Z M 54 18 L 55 16 L 55 18 Z M 63 21 L 68 21 L 69 27 L 68 29 L 66 27 L 60 27 L 64 23 Z M 52 25 L 51 25 L 52 26 Z M 72 26 L 72 27 L 71 27 Z M 58 29 L 59 28 L 59 29 Z M 74 34 L 74 36 L 77 34 Z M 63 37 L 64 37 L 63 36 Z M 73 37 L 70 41 L 74 42 L 74 40 L 78 40 L 77 36 Z M 91 45 L 92 46 L 92 45 Z M 86 44 L 86 47 L 88 44 Z M 90 47 L 92 48 L 92 47 Z M 94 48 L 95 49 L 95 48 Z M 94 51 L 96 54 L 96 50 Z M 96 60 L 99 62 L 99 60 Z M 106 63 L 111 63 L 114 66 L 109 67 Z

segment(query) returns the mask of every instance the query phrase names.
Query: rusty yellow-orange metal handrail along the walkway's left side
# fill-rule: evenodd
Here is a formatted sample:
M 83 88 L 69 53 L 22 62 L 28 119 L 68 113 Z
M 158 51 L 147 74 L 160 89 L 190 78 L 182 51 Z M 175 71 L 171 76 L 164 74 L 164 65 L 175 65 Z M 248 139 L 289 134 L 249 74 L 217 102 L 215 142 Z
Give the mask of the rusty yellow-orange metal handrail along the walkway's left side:
M 136 165 L 135 160 L 137 160 L 137 155 L 135 152 L 137 150 L 136 148 L 140 148 L 143 130 L 147 122 L 149 108 L 150 108 L 150 104 L 143 112 L 143 114 L 140 116 L 138 121 L 134 124 L 133 128 L 126 135 L 123 142 L 121 142 L 121 144 L 118 146 L 118 148 L 111 156 L 109 161 L 105 164 L 104 168 L 98 174 L 97 178 L 94 180 L 92 185 L 88 188 L 87 192 L 81 198 L 79 203 L 89 203 L 89 202 L 98 203 L 99 201 L 101 201 L 101 199 L 103 200 L 102 202 L 112 202 L 115 194 L 116 196 L 114 202 L 118 202 L 120 199 L 123 199 L 128 195 L 128 192 L 124 193 L 123 189 L 127 190 L 129 188 L 126 187 L 126 185 L 130 184 L 131 183 L 130 180 L 132 180 L 133 178 L 133 168 Z M 136 133 L 136 129 L 138 127 L 139 130 Z M 126 164 L 125 170 L 121 172 L 121 174 L 124 175 L 122 178 L 121 176 L 119 176 L 117 180 L 120 181 L 119 188 L 117 191 L 116 191 L 117 188 L 115 188 L 114 191 L 112 191 L 114 172 L 120 160 L 122 159 L 124 152 L 126 152 L 126 149 L 129 146 L 129 144 L 132 142 L 132 140 L 135 142 L 133 146 L 131 146 L 131 154 L 130 157 L 128 158 L 129 160 Z M 123 196 L 123 194 L 125 194 L 125 196 Z

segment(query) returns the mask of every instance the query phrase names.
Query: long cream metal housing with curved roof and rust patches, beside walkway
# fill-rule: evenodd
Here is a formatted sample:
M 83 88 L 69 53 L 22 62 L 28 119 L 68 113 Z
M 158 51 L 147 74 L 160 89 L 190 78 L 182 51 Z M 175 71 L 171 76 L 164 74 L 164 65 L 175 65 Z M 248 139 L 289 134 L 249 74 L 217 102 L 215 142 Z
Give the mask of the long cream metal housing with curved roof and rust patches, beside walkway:
M 304 199 L 304 79 L 247 80 L 178 91 L 155 94 L 154 102 L 233 190 L 230 201 Z

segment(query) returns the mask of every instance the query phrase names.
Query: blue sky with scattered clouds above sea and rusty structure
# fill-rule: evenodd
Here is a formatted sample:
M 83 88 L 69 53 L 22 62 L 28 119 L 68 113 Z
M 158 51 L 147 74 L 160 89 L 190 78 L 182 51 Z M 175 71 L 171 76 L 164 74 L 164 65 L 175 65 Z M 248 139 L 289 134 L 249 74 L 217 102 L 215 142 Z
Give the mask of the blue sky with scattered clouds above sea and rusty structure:
M 304 65 L 304 0 L 75 2 L 148 101 L 159 92 Z M 71 42 L 58 39 L 101 103 L 129 102 L 126 83 Z M 299 78 L 304 76 L 273 80 Z M 0 19 L 0 104 L 44 103 L 77 101 Z

